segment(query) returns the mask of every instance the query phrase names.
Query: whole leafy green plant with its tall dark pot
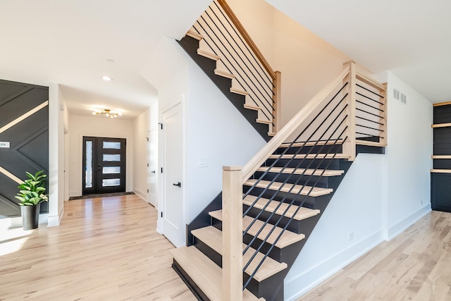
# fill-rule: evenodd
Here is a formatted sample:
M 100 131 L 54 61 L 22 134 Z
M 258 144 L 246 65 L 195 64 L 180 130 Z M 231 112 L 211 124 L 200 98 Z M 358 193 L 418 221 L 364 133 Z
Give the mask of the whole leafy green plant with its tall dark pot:
M 22 215 L 23 230 L 32 230 L 39 224 L 39 209 L 41 203 L 47 202 L 48 195 L 45 192 L 44 171 L 38 171 L 34 175 L 27 173 L 28 179 L 18 186 L 19 192 L 16 198 L 20 200 L 20 214 Z

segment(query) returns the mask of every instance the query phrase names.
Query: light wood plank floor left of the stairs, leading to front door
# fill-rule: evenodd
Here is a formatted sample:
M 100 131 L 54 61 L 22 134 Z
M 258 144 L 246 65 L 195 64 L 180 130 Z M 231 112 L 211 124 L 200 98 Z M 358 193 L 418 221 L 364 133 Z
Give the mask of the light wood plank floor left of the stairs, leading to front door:
M 126 195 L 65 202 L 59 227 L 0 231 L 0 300 L 196 300 L 155 228 L 154 207 Z

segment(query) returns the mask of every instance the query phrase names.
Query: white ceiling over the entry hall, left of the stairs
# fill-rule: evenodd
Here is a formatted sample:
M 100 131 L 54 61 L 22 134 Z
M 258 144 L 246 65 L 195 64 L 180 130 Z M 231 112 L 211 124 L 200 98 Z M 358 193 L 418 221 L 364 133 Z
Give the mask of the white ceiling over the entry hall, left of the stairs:
M 156 102 L 139 74 L 153 47 L 162 35 L 183 37 L 209 2 L 1 0 L 0 78 L 57 82 L 70 113 L 100 106 L 135 118 Z

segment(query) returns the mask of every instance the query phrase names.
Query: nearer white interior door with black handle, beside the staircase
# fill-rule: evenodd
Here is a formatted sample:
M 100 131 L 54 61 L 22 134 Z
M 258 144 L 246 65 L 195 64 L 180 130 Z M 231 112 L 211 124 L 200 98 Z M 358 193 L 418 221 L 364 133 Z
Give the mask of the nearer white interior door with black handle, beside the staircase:
M 163 235 L 175 247 L 185 245 L 183 202 L 183 104 L 163 112 Z

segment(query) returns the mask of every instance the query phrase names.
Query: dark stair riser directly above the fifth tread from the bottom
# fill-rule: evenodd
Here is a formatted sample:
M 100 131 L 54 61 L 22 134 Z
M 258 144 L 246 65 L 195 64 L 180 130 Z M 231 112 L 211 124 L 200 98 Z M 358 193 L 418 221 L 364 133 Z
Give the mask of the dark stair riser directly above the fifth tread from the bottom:
M 253 178 L 259 179 L 263 173 L 257 172 L 254 174 Z M 266 175 L 261 180 L 271 181 L 275 179 L 276 182 L 284 183 L 285 180 L 287 183 L 296 184 L 296 185 L 307 185 L 321 187 L 321 188 L 330 188 L 330 180 L 333 177 L 319 177 L 319 176 L 309 176 L 309 175 L 290 175 L 288 173 L 266 173 Z

